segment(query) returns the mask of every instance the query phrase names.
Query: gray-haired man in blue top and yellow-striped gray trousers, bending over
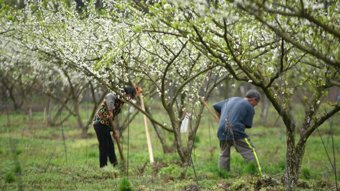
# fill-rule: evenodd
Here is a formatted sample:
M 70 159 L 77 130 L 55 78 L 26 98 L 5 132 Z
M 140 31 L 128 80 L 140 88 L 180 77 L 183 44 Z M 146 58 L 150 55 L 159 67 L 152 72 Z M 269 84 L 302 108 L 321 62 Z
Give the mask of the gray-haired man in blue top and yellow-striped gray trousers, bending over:
M 232 97 L 213 105 L 220 119 L 217 135 L 221 148 L 218 166 L 221 169 L 230 171 L 230 147 L 234 145 L 247 163 L 255 162 L 259 174 L 262 175 L 256 148 L 245 132 L 245 128 L 251 128 L 253 125 L 254 107 L 259 99 L 256 90 L 249 90 L 245 98 Z

